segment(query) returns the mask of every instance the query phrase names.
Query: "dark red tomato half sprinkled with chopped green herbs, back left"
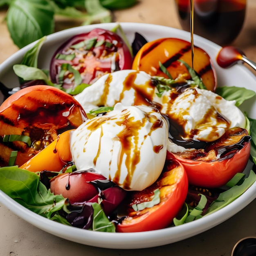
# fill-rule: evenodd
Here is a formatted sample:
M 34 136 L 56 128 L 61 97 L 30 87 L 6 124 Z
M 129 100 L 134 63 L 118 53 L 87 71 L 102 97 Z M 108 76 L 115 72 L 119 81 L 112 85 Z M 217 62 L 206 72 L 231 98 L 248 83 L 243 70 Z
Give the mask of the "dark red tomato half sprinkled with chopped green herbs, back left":
M 112 31 L 98 28 L 63 43 L 52 57 L 50 76 L 53 83 L 74 88 L 72 69 L 80 73 L 81 83 L 90 84 L 103 74 L 130 69 L 131 65 L 132 56 L 123 39 Z

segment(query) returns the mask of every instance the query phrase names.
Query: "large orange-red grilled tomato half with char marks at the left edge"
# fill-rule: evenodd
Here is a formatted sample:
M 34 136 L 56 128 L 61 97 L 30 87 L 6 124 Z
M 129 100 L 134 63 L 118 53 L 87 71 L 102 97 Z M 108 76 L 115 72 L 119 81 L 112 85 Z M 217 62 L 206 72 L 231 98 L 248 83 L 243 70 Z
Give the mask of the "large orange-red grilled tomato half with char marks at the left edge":
M 11 151 L 18 151 L 20 166 L 54 141 L 65 130 L 77 128 L 87 119 L 71 95 L 48 85 L 19 90 L 0 106 L 0 166 L 7 166 Z M 26 135 L 23 141 L 4 142 L 4 135 Z

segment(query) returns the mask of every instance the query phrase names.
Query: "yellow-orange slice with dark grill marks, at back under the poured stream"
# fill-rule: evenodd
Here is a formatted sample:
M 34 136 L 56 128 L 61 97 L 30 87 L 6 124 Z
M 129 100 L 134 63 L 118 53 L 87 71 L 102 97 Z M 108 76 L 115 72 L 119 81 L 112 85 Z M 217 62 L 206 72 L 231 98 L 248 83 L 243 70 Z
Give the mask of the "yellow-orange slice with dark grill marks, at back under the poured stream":
M 190 79 L 191 76 L 185 65 L 178 60 L 183 60 L 192 67 L 191 43 L 178 38 L 159 38 L 141 47 L 134 58 L 132 69 L 145 71 L 151 76 L 168 78 L 160 68 L 160 61 L 173 79 L 177 77 Z M 211 58 L 203 49 L 196 46 L 193 67 L 206 88 L 215 91 L 217 76 Z

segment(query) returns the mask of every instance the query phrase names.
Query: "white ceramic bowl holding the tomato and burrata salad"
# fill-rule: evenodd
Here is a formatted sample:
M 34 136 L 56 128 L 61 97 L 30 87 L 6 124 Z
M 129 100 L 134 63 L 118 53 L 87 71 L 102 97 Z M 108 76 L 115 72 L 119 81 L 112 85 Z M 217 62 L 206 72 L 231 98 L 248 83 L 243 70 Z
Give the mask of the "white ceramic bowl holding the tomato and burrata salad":
M 107 23 L 76 27 L 47 36 L 47 40 L 43 45 L 38 57 L 38 67 L 49 69 L 49 61 L 52 57 L 52 54 L 55 52 L 58 45 L 63 43 L 63 41 L 65 41 L 70 36 L 82 32 L 88 32 L 96 27 L 112 29 L 115 27 L 115 25 L 115 23 Z M 134 39 L 135 32 L 142 34 L 148 41 L 162 37 L 175 37 L 190 41 L 190 34 L 188 32 L 170 27 L 143 23 L 121 23 L 121 27 L 123 28 L 130 43 Z M 243 65 L 235 65 L 229 69 L 222 69 L 217 65 L 216 56 L 220 50 L 220 46 L 196 35 L 194 36 L 194 43 L 195 45 L 204 49 L 211 56 L 218 76 L 218 86 L 227 85 L 245 87 L 251 90 L 256 89 L 255 76 Z M 23 55 L 27 52 L 28 49 L 31 48 L 32 45 L 34 45 L 34 43 L 20 49 L 0 65 L 0 81 L 7 87 L 13 88 L 18 86 L 18 78 L 14 74 L 12 66 L 14 64 L 20 63 Z M 255 102 L 256 100 L 253 98 L 249 101 L 246 101 L 246 104 L 242 104 L 241 106 L 241 109 L 246 110 L 249 117 L 254 119 L 256 119 Z M 245 173 L 248 173 L 251 166 L 252 163 L 249 163 Z M 220 209 L 219 211 L 212 213 L 209 216 L 200 218 L 199 220 L 195 220 L 193 222 L 189 222 L 177 227 L 170 227 L 156 231 L 138 233 L 104 233 L 70 227 L 54 222 L 52 220 L 48 220 L 47 218 L 39 216 L 38 214 L 22 207 L 5 193 L 0 191 L 0 202 L 8 207 L 11 211 L 13 211 L 13 213 L 31 223 L 32 225 L 51 234 L 74 241 L 76 243 L 112 249 L 138 249 L 155 247 L 189 238 L 203 231 L 211 229 L 221 222 L 224 222 L 231 216 L 234 216 L 236 213 L 238 213 L 238 211 L 246 207 L 255 198 L 256 182 L 234 202 Z

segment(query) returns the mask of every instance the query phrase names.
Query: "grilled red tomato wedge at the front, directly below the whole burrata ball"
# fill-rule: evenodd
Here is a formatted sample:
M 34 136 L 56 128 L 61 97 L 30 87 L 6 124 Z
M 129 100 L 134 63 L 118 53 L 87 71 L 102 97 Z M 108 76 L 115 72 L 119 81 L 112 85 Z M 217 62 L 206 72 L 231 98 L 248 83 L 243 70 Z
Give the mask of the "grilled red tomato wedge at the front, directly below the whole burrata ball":
M 140 211 L 133 210 L 133 204 L 152 200 L 156 189 L 160 191 L 158 204 Z M 175 161 L 169 162 L 154 184 L 143 191 L 132 193 L 127 217 L 117 225 L 117 232 L 150 231 L 171 225 L 182 208 L 187 192 L 188 179 L 184 167 Z

